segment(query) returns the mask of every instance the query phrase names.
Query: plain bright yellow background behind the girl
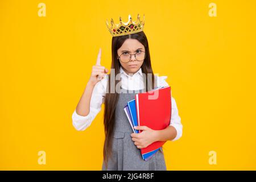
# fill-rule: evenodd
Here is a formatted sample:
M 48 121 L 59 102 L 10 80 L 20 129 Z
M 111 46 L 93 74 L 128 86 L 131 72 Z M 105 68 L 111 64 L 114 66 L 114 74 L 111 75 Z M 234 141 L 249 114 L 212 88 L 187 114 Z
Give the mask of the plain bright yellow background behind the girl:
M 46 17 L 38 4 L 46 3 Z M 217 17 L 208 15 L 209 3 Z M 102 48 L 105 20 L 145 14 L 152 68 L 168 76 L 184 125 L 168 170 L 256 169 L 255 1 L 1 1 L 0 169 L 100 170 L 103 110 L 85 131 L 72 113 Z M 103 109 L 104 106 L 102 106 Z M 46 165 L 38 164 L 46 151 Z M 208 163 L 209 151 L 217 164 Z

